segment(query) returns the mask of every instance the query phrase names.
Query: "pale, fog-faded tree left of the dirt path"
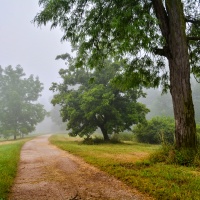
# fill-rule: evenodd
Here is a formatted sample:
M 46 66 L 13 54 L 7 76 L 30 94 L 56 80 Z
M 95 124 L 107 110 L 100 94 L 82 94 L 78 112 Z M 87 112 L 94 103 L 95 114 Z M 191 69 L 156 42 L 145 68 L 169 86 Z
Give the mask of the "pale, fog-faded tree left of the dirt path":
M 20 66 L 16 69 L 0 67 L 0 132 L 6 137 L 23 136 L 35 129 L 46 111 L 43 105 L 34 103 L 42 91 L 42 83 L 33 75 L 25 78 Z

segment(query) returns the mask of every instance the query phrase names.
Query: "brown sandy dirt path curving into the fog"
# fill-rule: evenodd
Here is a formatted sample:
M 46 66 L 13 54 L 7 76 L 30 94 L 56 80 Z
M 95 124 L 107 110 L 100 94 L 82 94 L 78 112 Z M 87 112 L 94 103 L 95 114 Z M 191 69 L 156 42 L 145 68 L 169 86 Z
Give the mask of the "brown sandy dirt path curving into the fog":
M 51 145 L 48 137 L 37 137 L 23 146 L 10 200 L 150 199 Z

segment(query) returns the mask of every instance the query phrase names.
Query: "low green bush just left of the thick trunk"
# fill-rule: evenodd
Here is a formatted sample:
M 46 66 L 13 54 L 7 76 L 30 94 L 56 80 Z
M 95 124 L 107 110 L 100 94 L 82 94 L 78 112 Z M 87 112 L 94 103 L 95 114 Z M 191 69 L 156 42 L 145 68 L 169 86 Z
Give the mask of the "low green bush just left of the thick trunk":
M 139 142 L 160 144 L 174 143 L 174 120 L 167 117 L 152 118 L 133 127 L 133 133 Z

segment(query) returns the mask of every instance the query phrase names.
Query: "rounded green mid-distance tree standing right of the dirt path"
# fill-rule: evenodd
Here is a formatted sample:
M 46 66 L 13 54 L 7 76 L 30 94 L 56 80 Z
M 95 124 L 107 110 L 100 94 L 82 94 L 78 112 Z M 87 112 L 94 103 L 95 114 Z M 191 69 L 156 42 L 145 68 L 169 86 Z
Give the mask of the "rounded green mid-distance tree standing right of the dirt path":
M 68 69 L 60 70 L 63 83 L 53 83 L 51 90 L 57 94 L 52 103 L 60 104 L 61 116 L 67 121 L 71 136 L 89 137 L 99 127 L 104 140 L 109 140 L 110 134 L 145 121 L 148 109 L 136 102 L 142 92 L 122 91 L 112 83 L 111 79 L 119 70 L 119 64 L 108 61 L 101 71 L 86 67 L 77 69 L 73 60 Z

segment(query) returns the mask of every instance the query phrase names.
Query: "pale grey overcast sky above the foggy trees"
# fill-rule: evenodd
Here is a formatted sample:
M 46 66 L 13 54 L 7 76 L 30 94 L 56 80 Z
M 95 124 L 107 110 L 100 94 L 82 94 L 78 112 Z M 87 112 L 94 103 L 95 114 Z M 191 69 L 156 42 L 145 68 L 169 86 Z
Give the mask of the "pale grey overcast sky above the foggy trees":
M 58 82 L 63 61 L 56 61 L 59 54 L 70 53 L 69 43 L 61 43 L 62 32 L 50 26 L 38 28 L 31 23 L 41 10 L 38 0 L 0 0 L 0 65 L 16 67 L 18 64 L 27 75 L 39 76 L 44 83 L 42 101 L 47 103 L 52 92 L 51 82 Z

